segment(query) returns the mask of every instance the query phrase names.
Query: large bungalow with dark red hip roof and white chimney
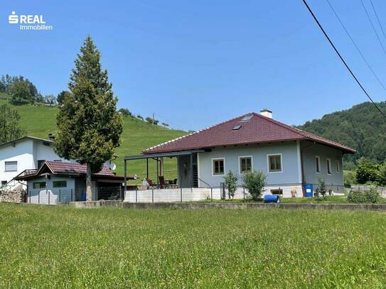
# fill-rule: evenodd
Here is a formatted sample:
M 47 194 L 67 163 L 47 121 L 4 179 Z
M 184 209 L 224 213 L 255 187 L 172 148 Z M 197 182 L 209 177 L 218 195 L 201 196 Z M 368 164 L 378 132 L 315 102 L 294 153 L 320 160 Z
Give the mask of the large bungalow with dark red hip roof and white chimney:
M 261 170 L 267 175 L 266 194 L 301 197 L 304 185 L 317 186 L 318 177 L 331 192 L 343 192 L 345 153 L 355 150 L 282 124 L 264 109 L 147 148 L 140 156 L 126 157 L 125 168 L 129 160 L 150 159 L 162 172 L 163 158 L 175 157 L 178 186 L 193 188 L 220 187 L 230 170 L 237 175 Z

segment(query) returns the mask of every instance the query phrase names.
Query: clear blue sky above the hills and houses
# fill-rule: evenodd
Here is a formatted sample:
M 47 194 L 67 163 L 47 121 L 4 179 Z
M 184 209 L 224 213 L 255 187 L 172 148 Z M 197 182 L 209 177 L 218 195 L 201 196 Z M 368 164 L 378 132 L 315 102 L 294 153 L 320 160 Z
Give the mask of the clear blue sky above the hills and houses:
M 386 84 L 386 53 L 360 0 L 330 0 Z M 325 0 L 309 5 L 375 101 L 377 82 Z M 383 45 L 370 0 L 363 0 Z M 386 3 L 372 0 L 386 28 Z M 43 15 L 52 31 L 22 31 L 16 14 Z M 87 34 L 102 53 L 119 108 L 174 129 L 198 130 L 267 108 L 303 124 L 368 99 L 301 0 L 18 1 L 0 8 L 0 75 L 23 75 L 42 94 L 67 89 Z

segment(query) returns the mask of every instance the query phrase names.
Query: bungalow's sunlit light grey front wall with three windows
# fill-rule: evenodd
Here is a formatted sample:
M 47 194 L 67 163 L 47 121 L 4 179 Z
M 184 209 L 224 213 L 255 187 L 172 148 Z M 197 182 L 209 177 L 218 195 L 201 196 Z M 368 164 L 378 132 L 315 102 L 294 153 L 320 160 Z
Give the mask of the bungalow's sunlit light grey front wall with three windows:
M 225 173 L 232 170 L 239 172 L 239 157 L 252 156 L 252 168 L 261 170 L 267 175 L 267 185 L 296 185 L 301 183 L 299 143 L 288 141 L 285 143 L 271 143 L 249 146 L 230 146 L 213 148 L 211 152 L 198 153 L 198 177 L 212 187 L 220 186 L 224 182 L 223 175 L 212 175 L 212 159 L 225 158 Z M 282 154 L 282 172 L 269 173 L 267 155 Z M 241 180 L 239 184 L 241 185 Z M 199 187 L 207 187 L 204 182 L 198 182 Z

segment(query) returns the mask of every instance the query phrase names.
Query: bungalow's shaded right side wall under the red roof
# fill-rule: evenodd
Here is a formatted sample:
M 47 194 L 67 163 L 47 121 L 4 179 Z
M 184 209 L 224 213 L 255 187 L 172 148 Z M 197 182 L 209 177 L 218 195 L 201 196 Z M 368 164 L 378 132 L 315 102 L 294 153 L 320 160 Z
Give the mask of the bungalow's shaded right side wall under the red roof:
M 301 142 L 301 148 L 309 146 L 311 143 Z M 316 173 L 315 156 L 320 157 L 321 173 Z M 304 158 L 304 177 L 306 183 L 318 184 L 318 177 L 324 178 L 326 185 L 343 186 L 343 165 L 342 152 L 337 148 L 323 146 L 316 143 L 303 151 Z M 331 175 L 327 173 L 327 158 L 331 160 Z M 336 161 L 339 161 L 341 172 L 336 171 Z

